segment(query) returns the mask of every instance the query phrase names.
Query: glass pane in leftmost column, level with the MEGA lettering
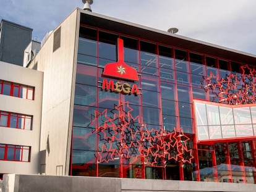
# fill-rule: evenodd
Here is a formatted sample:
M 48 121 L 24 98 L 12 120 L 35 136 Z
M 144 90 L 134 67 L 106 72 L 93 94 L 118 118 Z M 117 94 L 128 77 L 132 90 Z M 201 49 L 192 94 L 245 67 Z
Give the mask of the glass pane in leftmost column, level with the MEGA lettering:
M 75 104 L 96 106 L 96 86 L 75 84 Z

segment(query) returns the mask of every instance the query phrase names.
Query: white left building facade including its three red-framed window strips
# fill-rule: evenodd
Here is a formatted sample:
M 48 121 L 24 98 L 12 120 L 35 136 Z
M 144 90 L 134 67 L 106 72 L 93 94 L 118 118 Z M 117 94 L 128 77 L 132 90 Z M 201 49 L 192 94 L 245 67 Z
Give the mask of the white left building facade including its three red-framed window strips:
M 0 77 L 0 178 L 37 174 L 43 72 L 0 62 Z

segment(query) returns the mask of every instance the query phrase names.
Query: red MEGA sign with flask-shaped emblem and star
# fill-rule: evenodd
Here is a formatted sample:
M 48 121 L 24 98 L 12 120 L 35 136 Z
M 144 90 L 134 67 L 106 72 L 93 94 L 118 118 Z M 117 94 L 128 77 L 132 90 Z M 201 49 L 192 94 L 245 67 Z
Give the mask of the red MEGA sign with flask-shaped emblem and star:
M 124 62 L 124 41 L 117 38 L 117 62 L 105 65 L 103 76 L 117 78 L 119 80 L 138 81 L 137 71 Z M 140 94 L 136 84 L 130 85 L 129 83 L 121 83 L 121 81 L 103 79 L 103 90 L 111 90 L 116 93 L 123 94 Z

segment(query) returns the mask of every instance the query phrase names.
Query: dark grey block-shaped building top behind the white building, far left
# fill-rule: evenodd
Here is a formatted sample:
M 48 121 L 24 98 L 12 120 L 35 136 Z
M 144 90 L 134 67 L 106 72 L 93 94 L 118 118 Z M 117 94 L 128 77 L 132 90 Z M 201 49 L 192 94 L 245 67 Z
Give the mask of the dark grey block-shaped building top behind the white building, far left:
M 23 66 L 23 53 L 32 40 L 32 28 L 7 20 L 0 24 L 0 61 Z

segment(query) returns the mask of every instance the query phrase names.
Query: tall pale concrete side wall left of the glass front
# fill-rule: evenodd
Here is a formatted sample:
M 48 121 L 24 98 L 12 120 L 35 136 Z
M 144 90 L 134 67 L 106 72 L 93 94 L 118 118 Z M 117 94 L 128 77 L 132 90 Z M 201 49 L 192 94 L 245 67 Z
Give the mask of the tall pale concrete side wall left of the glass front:
M 44 72 L 43 107 L 40 151 L 46 152 L 45 173 L 69 173 L 70 140 L 72 130 L 72 93 L 74 93 L 75 40 L 77 38 L 77 9 L 49 35 L 40 52 L 30 63 Z M 61 27 L 61 41 L 54 51 L 54 33 Z M 71 114 L 71 116 L 70 116 Z

